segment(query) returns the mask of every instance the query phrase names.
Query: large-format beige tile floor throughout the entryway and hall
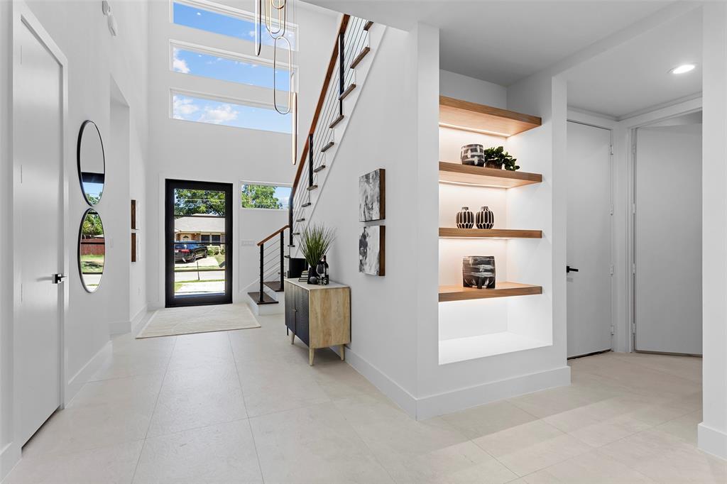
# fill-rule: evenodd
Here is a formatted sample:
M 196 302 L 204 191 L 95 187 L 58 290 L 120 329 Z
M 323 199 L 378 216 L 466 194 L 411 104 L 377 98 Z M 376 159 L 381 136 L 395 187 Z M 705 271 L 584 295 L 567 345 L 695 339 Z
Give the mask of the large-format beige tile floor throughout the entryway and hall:
M 727 483 L 695 447 L 701 360 L 608 353 L 573 384 L 414 422 L 262 328 L 113 340 L 5 483 Z

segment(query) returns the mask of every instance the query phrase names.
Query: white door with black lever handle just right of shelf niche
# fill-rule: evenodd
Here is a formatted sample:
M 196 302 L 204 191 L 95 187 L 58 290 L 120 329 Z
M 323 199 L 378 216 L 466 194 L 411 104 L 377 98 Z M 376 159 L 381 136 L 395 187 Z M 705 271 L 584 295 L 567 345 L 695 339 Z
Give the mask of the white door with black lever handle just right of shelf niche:
M 568 123 L 568 356 L 611 349 L 611 131 Z M 558 267 L 557 270 L 566 270 Z

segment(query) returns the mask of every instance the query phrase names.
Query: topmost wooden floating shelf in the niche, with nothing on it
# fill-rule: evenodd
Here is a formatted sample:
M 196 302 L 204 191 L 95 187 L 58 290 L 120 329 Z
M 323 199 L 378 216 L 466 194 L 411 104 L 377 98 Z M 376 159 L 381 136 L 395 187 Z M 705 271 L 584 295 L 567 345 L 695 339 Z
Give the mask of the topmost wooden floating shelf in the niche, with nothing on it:
M 476 102 L 439 97 L 439 126 L 495 136 L 513 136 L 537 128 L 542 119 Z

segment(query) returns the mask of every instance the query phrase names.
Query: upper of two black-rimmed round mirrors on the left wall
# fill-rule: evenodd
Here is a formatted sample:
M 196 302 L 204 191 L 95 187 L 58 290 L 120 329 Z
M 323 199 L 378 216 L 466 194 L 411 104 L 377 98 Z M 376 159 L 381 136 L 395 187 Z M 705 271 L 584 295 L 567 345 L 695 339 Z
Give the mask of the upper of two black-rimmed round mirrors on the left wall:
M 101 132 L 93 121 L 84 121 L 79 132 L 79 180 L 81 191 L 90 206 L 95 206 L 103 195 L 106 159 Z

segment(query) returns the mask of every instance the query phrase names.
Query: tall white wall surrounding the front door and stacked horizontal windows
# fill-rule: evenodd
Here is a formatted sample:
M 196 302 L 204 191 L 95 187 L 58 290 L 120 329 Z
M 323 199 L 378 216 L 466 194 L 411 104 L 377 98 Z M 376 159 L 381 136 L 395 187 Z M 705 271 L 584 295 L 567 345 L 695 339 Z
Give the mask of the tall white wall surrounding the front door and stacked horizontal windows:
M 220 3 L 252 12 L 252 1 Z M 326 9 L 298 5 L 300 25 L 297 63 L 299 73 L 300 132 L 307 132 L 318 101 L 340 16 Z M 164 307 L 164 180 L 200 180 L 233 184 L 233 299 L 244 300 L 244 290 L 257 277 L 254 243 L 287 223 L 287 212 L 239 209 L 241 181 L 292 183 L 291 141 L 287 134 L 201 124 L 170 118 L 169 89 L 222 94 L 237 99 L 271 101 L 268 89 L 189 76 L 169 70 L 169 39 L 188 41 L 252 55 L 252 43 L 198 31 L 169 22 L 169 4 L 153 1 L 149 21 L 150 164 L 146 190 L 150 249 L 146 262 L 150 308 Z M 263 49 L 263 55 L 271 55 Z M 299 144 L 304 140 L 300 137 Z M 300 150 L 299 150 L 300 153 Z M 264 220 L 263 220 L 264 219 Z M 251 243 L 253 245 L 251 245 Z M 251 273 L 252 269 L 252 273 Z

